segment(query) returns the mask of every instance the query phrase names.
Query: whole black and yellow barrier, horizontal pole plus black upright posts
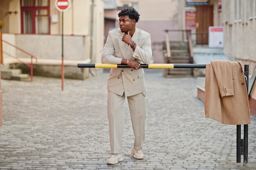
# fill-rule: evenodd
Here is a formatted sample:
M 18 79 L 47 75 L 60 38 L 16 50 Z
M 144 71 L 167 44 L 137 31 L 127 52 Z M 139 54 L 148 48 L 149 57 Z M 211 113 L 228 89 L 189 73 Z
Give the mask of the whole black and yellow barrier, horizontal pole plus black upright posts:
M 77 64 L 79 68 L 129 68 L 123 64 Z M 141 64 L 142 68 L 205 68 L 206 64 Z M 246 78 L 247 93 L 249 82 L 249 65 L 245 65 L 244 75 Z M 236 162 L 241 162 L 244 155 L 244 164 L 248 163 L 248 125 L 244 125 L 244 139 L 241 139 L 241 125 L 236 126 Z

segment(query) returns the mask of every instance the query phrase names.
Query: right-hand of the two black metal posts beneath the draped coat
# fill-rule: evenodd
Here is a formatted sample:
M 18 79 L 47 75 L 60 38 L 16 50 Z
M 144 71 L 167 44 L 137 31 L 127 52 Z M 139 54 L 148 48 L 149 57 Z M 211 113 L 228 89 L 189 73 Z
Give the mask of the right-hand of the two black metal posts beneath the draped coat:
M 245 65 L 246 88 L 248 93 L 249 84 L 249 65 Z M 248 125 L 244 125 L 244 164 L 248 163 Z

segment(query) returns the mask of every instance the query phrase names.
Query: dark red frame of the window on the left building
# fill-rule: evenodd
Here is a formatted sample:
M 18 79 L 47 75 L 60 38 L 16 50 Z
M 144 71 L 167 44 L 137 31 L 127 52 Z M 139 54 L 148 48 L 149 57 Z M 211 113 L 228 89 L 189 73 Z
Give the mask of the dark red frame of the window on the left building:
M 46 9 L 47 10 L 47 15 L 36 15 L 36 10 L 40 9 Z M 36 6 L 36 0 L 34 0 L 34 6 L 29 6 L 29 7 L 22 7 L 22 0 L 20 0 L 20 13 L 21 13 L 21 33 L 24 34 L 24 11 L 31 11 L 32 15 L 32 33 L 31 34 L 36 34 L 36 17 L 37 16 L 47 16 L 48 17 L 48 33 L 50 34 L 50 0 L 48 0 L 48 6 Z

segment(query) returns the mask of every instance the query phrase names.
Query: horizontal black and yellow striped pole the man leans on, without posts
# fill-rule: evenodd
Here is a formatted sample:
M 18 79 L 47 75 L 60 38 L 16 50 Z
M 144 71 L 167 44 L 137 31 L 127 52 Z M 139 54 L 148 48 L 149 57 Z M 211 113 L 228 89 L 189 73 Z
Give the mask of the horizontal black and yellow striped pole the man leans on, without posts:
M 77 64 L 79 68 L 128 68 L 123 64 Z M 142 68 L 205 68 L 205 64 L 141 64 Z

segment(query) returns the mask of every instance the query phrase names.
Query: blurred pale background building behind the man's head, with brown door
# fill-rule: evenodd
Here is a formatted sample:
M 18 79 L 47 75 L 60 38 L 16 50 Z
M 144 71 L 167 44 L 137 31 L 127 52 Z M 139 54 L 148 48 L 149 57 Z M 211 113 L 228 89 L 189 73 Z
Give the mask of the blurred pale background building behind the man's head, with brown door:
M 162 51 L 166 29 L 177 30 L 169 32 L 170 41 L 185 40 L 186 34 L 181 30 L 191 29 L 194 44 L 197 42 L 201 44 L 202 40 L 204 44 L 208 44 L 209 26 L 222 25 L 222 15 L 218 9 L 219 0 L 104 0 L 104 2 L 105 38 L 109 30 L 118 27 L 117 13 L 125 7 L 135 8 L 140 14 L 136 26 L 151 35 L 154 63 L 166 62 Z M 204 33 L 203 36 L 200 33 Z

